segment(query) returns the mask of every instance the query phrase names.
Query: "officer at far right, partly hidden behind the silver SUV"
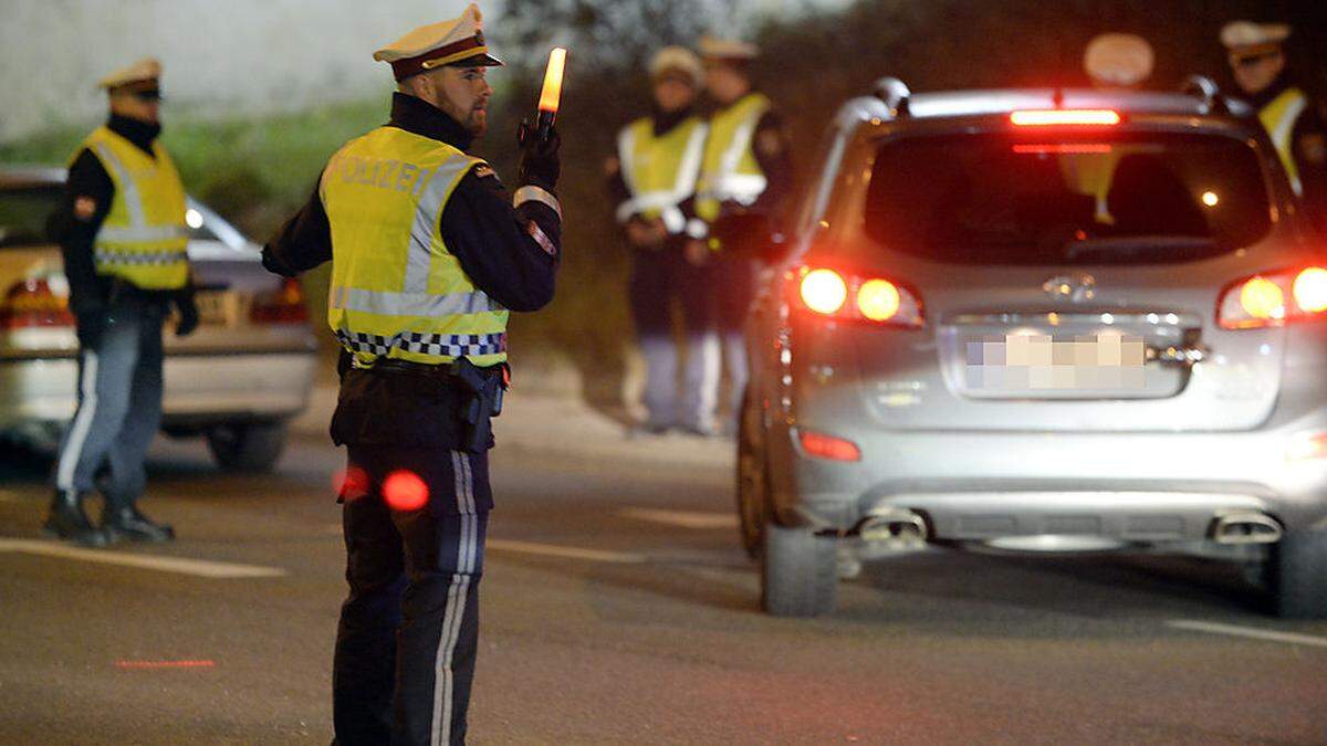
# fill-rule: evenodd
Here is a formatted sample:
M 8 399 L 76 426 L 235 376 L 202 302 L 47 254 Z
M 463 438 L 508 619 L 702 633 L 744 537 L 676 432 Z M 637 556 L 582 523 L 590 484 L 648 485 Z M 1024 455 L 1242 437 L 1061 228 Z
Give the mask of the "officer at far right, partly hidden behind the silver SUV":
M 1285 24 L 1234 21 L 1221 29 L 1235 82 L 1271 135 L 1291 190 L 1327 230 L 1327 126 L 1287 69 L 1289 37 Z

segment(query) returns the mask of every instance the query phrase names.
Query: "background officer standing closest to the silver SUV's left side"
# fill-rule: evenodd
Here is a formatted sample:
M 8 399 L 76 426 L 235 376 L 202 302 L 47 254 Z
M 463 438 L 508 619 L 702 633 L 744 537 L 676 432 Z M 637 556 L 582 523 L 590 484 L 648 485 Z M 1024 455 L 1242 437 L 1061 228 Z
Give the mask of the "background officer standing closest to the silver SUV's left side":
M 792 159 L 783 122 L 770 98 L 752 90 L 750 66 L 759 54 L 754 44 L 701 38 L 706 89 L 717 109 L 710 115 L 710 133 L 701 161 L 695 211 L 709 226 L 721 219 L 759 218 L 764 230 L 725 246 L 717 238 L 694 240 L 690 254 L 713 255 L 710 303 L 727 365 L 731 397 L 725 430 L 736 431 L 742 393 L 747 381 L 747 354 L 742 327 L 755 292 L 755 273 L 762 242 L 778 222 L 779 211 L 792 190 Z M 743 246 L 743 243 L 746 246 Z M 718 398 L 718 377 L 713 384 Z

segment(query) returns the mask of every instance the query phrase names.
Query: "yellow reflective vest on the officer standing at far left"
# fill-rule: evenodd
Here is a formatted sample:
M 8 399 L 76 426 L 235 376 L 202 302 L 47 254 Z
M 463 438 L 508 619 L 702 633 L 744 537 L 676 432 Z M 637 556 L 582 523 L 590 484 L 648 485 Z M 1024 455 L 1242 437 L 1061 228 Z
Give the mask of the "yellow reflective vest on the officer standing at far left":
M 93 244 L 98 275 L 122 277 L 143 289 L 179 289 L 188 283 L 184 186 L 159 142 L 153 155 L 97 127 L 84 147 L 101 161 L 115 196 Z

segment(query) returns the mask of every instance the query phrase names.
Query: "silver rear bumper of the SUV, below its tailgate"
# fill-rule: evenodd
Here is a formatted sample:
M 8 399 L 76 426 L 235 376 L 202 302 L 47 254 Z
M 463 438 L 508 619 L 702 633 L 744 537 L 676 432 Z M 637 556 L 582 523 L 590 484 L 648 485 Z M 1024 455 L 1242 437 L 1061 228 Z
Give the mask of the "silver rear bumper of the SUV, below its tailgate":
M 872 510 L 922 514 L 942 540 L 1092 535 L 1208 539 L 1216 518 L 1261 512 L 1287 530 L 1327 527 L 1327 458 L 1291 458 L 1327 410 L 1274 430 L 1189 434 L 874 431 L 847 437 L 861 462 L 808 457 L 795 429 L 771 438 L 786 519 L 849 530 Z

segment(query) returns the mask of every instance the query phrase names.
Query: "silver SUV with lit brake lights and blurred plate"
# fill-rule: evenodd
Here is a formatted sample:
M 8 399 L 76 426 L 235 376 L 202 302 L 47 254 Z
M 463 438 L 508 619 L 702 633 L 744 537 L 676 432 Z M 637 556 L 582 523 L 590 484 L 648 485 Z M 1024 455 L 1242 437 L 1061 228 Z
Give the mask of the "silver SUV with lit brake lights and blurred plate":
M 886 78 L 817 169 L 748 321 L 766 611 L 943 543 L 1197 551 L 1327 616 L 1327 243 L 1250 112 Z

